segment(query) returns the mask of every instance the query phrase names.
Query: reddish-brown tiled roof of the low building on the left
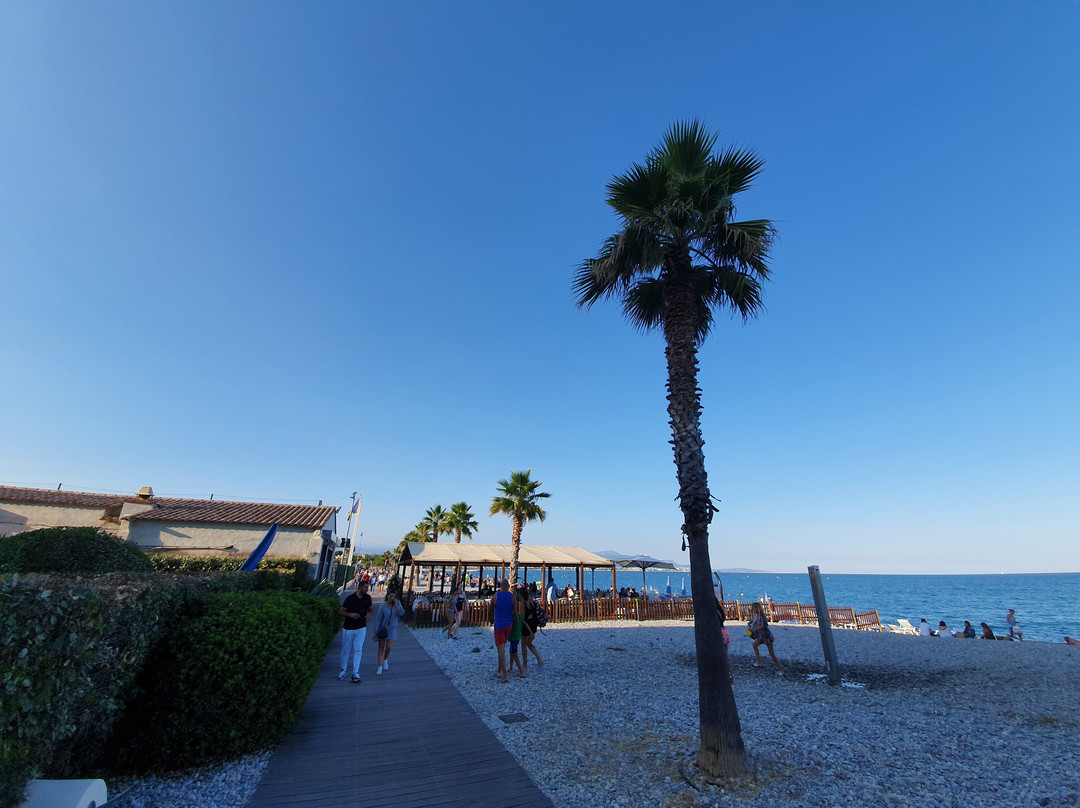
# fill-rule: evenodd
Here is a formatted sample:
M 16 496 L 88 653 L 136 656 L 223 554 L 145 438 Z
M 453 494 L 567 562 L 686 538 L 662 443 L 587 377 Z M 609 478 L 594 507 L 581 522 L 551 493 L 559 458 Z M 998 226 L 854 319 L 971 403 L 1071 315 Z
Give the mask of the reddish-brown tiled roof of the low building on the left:
M 103 509 L 136 502 L 150 504 L 153 508 L 124 519 L 143 522 L 210 522 L 232 525 L 270 525 L 276 522 L 281 527 L 310 527 L 313 530 L 325 525 L 337 510 L 334 506 L 138 497 L 12 486 L 0 486 L 0 502 Z

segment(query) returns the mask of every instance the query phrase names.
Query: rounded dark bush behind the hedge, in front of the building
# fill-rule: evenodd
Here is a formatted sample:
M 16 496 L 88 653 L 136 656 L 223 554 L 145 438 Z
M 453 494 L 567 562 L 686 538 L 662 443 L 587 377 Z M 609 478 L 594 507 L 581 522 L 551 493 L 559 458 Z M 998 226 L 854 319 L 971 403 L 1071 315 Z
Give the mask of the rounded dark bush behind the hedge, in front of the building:
M 43 527 L 0 538 L 0 573 L 149 573 L 146 553 L 96 527 Z

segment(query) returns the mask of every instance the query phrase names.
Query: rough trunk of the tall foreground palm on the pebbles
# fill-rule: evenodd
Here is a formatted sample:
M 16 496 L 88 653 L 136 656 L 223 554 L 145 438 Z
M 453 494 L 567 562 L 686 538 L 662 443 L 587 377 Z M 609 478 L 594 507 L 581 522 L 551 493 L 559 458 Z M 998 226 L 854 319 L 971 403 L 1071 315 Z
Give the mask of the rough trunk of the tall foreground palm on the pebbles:
M 697 318 L 689 255 L 665 267 L 664 337 L 667 341 L 667 416 L 675 449 L 683 533 L 690 546 L 694 647 L 698 656 L 698 766 L 706 777 L 741 777 L 748 771 L 734 693 L 724 664 L 724 635 L 713 595 L 708 555 L 712 502 L 701 436 Z

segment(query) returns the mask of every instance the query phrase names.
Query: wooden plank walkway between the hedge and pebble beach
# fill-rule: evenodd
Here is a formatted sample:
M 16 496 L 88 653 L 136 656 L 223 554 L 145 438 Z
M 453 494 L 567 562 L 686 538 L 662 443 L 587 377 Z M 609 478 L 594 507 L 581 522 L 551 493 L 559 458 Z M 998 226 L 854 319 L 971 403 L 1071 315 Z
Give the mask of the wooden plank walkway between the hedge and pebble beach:
M 363 683 L 339 682 L 338 633 L 248 808 L 551 808 L 408 629 L 381 676 L 376 654 L 368 639 Z

